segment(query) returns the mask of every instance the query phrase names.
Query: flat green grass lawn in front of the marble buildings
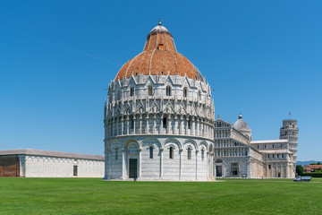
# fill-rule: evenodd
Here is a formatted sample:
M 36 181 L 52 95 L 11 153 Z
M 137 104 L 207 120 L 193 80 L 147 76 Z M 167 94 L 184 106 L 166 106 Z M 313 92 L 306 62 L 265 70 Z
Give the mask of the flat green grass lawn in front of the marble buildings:
M 322 179 L 0 178 L 0 214 L 322 214 Z

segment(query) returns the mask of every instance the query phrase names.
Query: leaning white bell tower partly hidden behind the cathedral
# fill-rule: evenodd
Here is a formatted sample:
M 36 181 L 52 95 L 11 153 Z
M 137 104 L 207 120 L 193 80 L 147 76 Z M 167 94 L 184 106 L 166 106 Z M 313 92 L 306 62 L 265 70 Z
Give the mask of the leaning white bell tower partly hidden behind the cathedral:
M 297 120 L 284 119 L 283 127 L 280 130 L 280 140 L 288 140 L 290 143 L 289 150 L 292 151 L 293 171 L 295 173 L 297 147 L 299 139 L 299 128 L 297 127 Z

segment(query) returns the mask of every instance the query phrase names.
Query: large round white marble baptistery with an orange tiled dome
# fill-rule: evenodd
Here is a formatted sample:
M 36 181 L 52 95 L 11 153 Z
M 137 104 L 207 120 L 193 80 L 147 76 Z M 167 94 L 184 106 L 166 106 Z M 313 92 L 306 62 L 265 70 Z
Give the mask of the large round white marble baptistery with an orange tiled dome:
M 104 109 L 104 179 L 214 180 L 210 87 L 160 21 L 110 82 Z

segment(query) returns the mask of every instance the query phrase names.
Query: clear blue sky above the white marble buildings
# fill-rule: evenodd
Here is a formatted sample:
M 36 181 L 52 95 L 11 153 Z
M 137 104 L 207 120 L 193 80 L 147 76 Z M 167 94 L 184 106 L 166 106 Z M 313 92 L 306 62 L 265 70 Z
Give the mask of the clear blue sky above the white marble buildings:
M 298 119 L 321 160 L 321 1 L 1 1 L 0 150 L 103 154 L 108 83 L 162 18 L 206 76 L 216 116 L 254 140 Z

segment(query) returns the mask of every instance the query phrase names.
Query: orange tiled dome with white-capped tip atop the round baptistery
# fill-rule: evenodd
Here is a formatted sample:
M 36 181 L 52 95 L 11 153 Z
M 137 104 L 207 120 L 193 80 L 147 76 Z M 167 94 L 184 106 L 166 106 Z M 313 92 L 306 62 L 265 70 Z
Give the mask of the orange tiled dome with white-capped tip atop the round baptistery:
M 129 78 L 131 74 L 186 74 L 188 78 L 204 81 L 197 67 L 176 51 L 174 38 L 161 21 L 148 34 L 143 52 L 124 64 L 115 80 Z

